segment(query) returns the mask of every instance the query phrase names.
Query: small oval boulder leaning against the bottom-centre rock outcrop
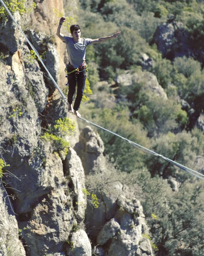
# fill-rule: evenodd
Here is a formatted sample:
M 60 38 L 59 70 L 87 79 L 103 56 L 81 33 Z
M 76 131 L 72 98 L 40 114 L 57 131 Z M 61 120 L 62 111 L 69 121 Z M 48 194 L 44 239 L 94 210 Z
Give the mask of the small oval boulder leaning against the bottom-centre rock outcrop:
M 118 224 L 117 221 L 114 220 L 114 218 L 106 222 L 106 224 L 103 226 L 102 230 L 98 234 L 97 244 L 99 245 L 105 244 L 109 239 L 115 236 L 115 233 L 119 229 L 120 229 L 120 225 Z

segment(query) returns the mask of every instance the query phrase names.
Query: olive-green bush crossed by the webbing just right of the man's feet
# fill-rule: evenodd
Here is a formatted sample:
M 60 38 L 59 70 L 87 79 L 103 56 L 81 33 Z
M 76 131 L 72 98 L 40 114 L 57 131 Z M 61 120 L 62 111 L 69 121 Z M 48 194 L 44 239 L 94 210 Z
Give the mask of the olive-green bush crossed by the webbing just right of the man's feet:
M 135 124 L 129 122 L 129 113 L 126 109 L 103 109 L 95 117 L 95 122 L 135 143 L 147 147 L 149 145 L 147 132 L 143 130 L 139 122 Z M 122 171 L 130 172 L 137 166 L 144 165 L 141 151 L 132 148 L 129 143 L 113 134 L 103 130 L 99 130 L 99 134 L 106 145 L 105 153 L 113 157 Z M 129 161 L 129 159 L 134 159 L 134 161 Z

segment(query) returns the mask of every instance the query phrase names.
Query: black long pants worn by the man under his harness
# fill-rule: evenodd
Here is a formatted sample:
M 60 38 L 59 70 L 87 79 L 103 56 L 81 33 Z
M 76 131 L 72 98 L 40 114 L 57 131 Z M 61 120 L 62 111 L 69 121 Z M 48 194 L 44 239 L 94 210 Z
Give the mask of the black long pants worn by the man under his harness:
M 67 69 L 67 72 L 71 72 L 72 69 Z M 80 103 L 83 97 L 83 92 L 85 88 L 85 83 L 86 83 L 86 68 L 82 71 L 80 71 L 78 74 L 77 72 L 73 72 L 68 75 L 68 86 L 69 86 L 69 92 L 68 92 L 68 103 L 72 104 L 72 101 L 75 96 L 75 90 L 77 87 L 77 96 L 75 99 L 75 105 L 74 105 L 74 110 L 78 110 L 80 107 Z M 77 85 L 77 86 L 76 86 Z

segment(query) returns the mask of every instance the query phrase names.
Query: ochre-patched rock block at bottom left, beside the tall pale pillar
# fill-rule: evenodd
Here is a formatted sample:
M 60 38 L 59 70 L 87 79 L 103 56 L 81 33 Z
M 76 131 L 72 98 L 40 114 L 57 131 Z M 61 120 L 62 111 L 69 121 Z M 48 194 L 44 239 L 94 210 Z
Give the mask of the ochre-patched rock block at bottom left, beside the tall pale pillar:
M 73 225 L 72 199 L 66 186 L 44 195 L 30 215 L 20 215 L 20 228 L 31 256 L 63 252 Z

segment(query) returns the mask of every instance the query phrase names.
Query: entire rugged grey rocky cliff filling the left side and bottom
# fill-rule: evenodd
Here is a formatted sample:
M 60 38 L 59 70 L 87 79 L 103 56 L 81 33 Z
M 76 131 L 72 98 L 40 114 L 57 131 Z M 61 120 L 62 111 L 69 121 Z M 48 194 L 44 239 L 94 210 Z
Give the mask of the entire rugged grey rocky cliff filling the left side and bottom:
M 43 49 L 43 59 L 60 83 L 59 63 L 66 58 L 62 44 L 50 40 L 52 4 L 36 2 L 29 22 L 46 33 L 26 27 L 26 35 L 36 49 Z M 53 1 L 53 6 L 62 9 L 63 3 Z M 15 18 L 25 21 L 17 13 Z M 0 26 L 0 159 L 7 164 L 0 181 L 0 255 L 152 255 L 142 206 L 128 187 L 112 183 L 115 195 L 98 191 L 98 207 L 87 204 L 85 174 L 108 172 L 103 141 L 90 127 L 79 136 L 77 120 L 15 24 L 9 19 Z M 74 135 L 45 137 L 56 120 L 68 118 L 75 122 Z

